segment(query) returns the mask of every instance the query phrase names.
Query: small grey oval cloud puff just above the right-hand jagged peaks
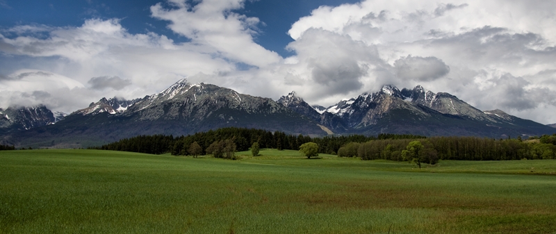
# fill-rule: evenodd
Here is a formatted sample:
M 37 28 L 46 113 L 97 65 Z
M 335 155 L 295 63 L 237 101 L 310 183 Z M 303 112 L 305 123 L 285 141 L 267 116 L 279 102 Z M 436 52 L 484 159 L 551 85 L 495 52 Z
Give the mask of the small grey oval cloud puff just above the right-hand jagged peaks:
M 414 81 L 434 81 L 450 72 L 450 67 L 435 57 L 407 56 L 394 62 L 399 78 Z

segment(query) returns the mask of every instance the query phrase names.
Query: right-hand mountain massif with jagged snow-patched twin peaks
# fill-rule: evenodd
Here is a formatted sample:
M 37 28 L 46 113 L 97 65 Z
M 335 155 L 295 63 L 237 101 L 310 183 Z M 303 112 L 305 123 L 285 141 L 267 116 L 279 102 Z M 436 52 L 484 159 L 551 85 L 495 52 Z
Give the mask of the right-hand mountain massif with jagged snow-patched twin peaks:
M 288 108 L 300 109 L 295 102 L 290 102 Z M 316 119 L 314 116 L 311 118 Z M 365 92 L 357 98 L 340 101 L 322 112 L 320 124 L 336 133 L 366 135 L 399 133 L 507 137 L 555 132 L 553 128 L 507 115 L 500 110 L 483 112 L 452 94 L 435 94 L 420 85 L 412 90 L 398 90 L 392 85 L 384 85 L 379 92 Z

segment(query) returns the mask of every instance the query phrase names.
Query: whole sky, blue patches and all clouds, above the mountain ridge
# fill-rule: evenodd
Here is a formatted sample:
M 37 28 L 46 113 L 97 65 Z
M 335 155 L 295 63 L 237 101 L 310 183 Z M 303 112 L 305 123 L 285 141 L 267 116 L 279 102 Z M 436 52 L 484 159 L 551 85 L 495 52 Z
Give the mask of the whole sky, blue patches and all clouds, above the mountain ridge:
M 0 108 L 181 78 L 331 106 L 382 85 L 556 122 L 555 1 L 0 0 Z

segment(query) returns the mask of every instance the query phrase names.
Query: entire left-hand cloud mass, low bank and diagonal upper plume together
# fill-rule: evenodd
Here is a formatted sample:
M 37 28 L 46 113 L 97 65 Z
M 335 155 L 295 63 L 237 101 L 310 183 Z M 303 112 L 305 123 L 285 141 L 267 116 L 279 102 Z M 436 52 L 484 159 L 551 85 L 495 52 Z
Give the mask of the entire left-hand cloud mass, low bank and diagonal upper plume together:
M 256 79 L 256 72 L 236 71 L 238 63 L 274 69 L 282 62 L 277 53 L 253 41 L 259 19 L 234 12 L 243 7 L 243 0 L 206 0 L 194 7 L 189 2 L 170 1 L 173 8 L 157 4 L 151 10 L 152 17 L 170 22 L 168 27 L 189 37 L 190 42 L 175 43 L 156 33 L 132 34 L 119 19 L 88 19 L 79 27 L 33 24 L 0 31 L 0 61 L 14 57 L 21 61 L 6 62 L 4 66 L 0 62 L 0 76 L 32 68 L 89 84 L 83 87 L 89 91 L 82 92 L 89 96 L 80 95 L 81 100 L 68 103 L 63 107 L 67 111 L 84 108 L 101 97 L 144 97 L 185 77 L 227 87 L 238 87 L 242 82 L 248 86 L 247 81 Z M 112 83 L 113 88 L 106 89 L 108 80 L 99 77 L 118 77 L 126 82 Z M 239 90 L 254 89 L 248 86 Z M 19 94 L 12 96 L 4 99 L 8 100 L 4 106 L 22 99 Z

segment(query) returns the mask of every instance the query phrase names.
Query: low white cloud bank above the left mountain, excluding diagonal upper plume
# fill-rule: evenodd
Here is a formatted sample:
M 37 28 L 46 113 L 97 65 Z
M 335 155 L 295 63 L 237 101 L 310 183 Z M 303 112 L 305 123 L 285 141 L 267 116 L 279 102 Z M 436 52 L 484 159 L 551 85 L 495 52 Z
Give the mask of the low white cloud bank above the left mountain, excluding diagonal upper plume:
M 18 28 L 12 32 L 22 31 Z M 72 101 L 72 106 L 63 108 L 65 111 L 85 108 L 101 97 L 143 97 L 163 90 L 179 78 L 199 72 L 213 74 L 235 69 L 233 62 L 215 56 L 218 51 L 211 47 L 195 43 L 176 44 L 164 35 L 154 33 L 131 34 L 117 19 L 89 19 L 80 27 L 41 29 L 40 26 L 33 26 L 32 29 L 49 34 L 47 37 L 22 35 L 13 38 L 0 35 L 0 50 L 3 53 L 0 60 L 10 60 L 13 56 L 22 60 L 16 64 L 22 67 L 0 65 L 1 69 L 27 69 L 25 66 L 31 64 L 35 69 L 56 77 L 71 77 L 81 84 L 102 76 L 117 76 L 133 84 L 121 90 L 85 92 L 90 96 L 80 95 L 82 99 Z M 22 83 L 9 83 L 18 84 Z M 3 106 L 9 105 L 7 102 L 17 103 L 15 99 L 21 97 L 19 94 L 13 96 L 3 99 L 10 100 L 4 101 Z

